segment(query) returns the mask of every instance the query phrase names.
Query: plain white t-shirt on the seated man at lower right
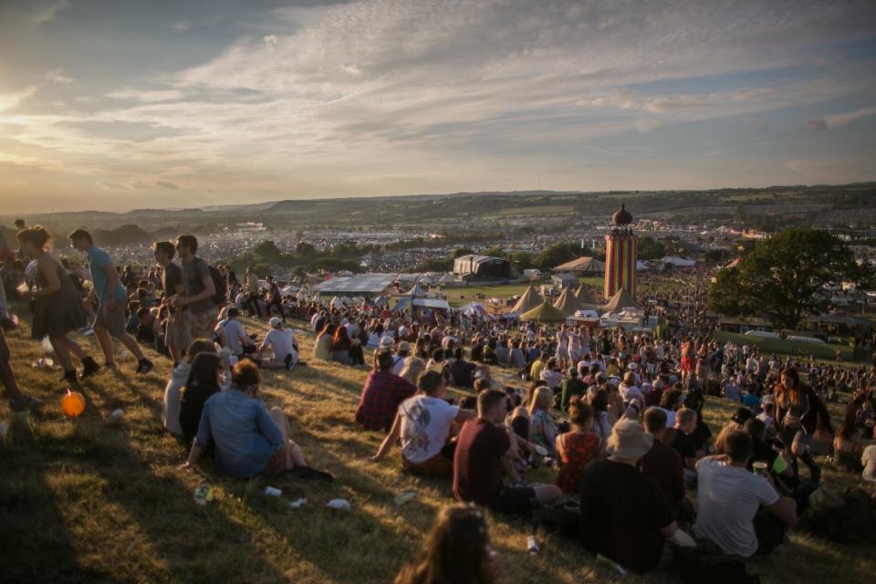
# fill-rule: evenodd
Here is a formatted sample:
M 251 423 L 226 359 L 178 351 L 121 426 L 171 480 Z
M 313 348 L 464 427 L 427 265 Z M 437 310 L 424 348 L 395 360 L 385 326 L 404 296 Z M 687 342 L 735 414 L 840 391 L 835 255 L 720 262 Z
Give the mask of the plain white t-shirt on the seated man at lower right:
M 776 489 L 762 476 L 714 458 L 697 463 L 696 476 L 696 536 L 714 542 L 725 554 L 754 556 L 755 514 L 760 506 L 776 503 Z

